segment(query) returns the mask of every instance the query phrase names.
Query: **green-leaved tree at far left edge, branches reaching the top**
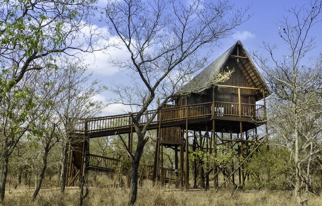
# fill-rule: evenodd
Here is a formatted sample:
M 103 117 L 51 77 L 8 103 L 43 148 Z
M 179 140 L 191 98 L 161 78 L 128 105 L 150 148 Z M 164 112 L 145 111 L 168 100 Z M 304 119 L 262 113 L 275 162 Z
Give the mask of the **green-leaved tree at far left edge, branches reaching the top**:
M 0 106 L 4 123 L 0 136 L 0 201 L 4 198 L 10 150 L 23 135 L 22 131 L 33 126 L 32 122 L 26 123 L 34 106 L 33 96 L 28 88 L 20 90 L 17 84 L 29 72 L 54 67 L 56 57 L 61 53 L 73 55 L 75 49 L 95 50 L 95 29 L 82 34 L 89 26 L 87 18 L 94 2 L 0 0 Z M 80 37 L 85 40 L 81 42 Z M 17 101 L 19 105 L 14 103 Z M 18 108 L 19 114 L 14 114 L 13 111 L 18 111 L 11 106 Z

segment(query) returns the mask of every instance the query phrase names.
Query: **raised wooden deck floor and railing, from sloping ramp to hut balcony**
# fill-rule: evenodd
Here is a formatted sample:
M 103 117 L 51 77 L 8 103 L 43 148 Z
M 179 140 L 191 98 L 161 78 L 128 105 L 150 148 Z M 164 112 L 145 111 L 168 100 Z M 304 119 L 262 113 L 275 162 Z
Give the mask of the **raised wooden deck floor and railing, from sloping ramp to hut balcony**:
M 229 121 L 243 121 L 250 124 L 255 124 L 264 121 L 264 105 L 259 104 L 246 104 L 246 103 L 225 103 L 215 102 L 213 103 L 200 103 L 191 104 L 185 106 L 171 106 L 163 108 L 156 115 L 151 124 L 149 130 L 173 126 L 183 126 L 188 121 L 189 125 L 193 129 L 203 130 L 212 119 L 217 119 L 219 124 Z M 149 110 L 147 114 L 144 114 L 140 123 L 143 127 L 148 119 L 152 118 L 155 110 Z M 136 113 L 134 113 L 136 115 Z M 161 122 L 160 122 L 161 121 Z M 89 119 L 78 120 L 76 124 L 75 133 L 85 133 L 90 138 L 103 137 L 118 134 L 130 133 L 131 130 L 135 132 L 135 128 L 132 124 L 130 114 L 120 114 L 112 116 L 95 117 Z M 247 124 L 245 124 L 247 126 Z M 220 129 L 220 127 L 217 127 Z M 228 129 L 226 130 L 228 131 Z M 237 130 L 238 132 L 239 130 Z

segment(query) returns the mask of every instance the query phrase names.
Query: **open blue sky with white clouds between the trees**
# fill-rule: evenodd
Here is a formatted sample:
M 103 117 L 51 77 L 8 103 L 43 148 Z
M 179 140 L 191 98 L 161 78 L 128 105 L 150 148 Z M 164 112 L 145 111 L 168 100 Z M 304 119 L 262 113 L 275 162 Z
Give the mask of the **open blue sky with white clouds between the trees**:
M 309 3 L 309 0 L 231 0 L 231 3 L 235 4 L 235 9 L 243 9 L 246 5 L 251 5 L 248 14 L 252 14 L 251 18 L 236 28 L 235 34 L 221 41 L 221 47 L 214 48 L 213 54 L 209 59 L 209 62 L 215 60 L 219 55 L 221 55 L 224 51 L 229 49 L 237 40 L 240 40 L 243 46 L 247 51 L 258 51 L 259 53 L 267 56 L 267 52 L 261 48 L 263 46 L 263 42 L 269 44 L 276 44 L 278 46 L 278 50 L 276 55 L 287 55 L 287 45 L 281 41 L 280 36 L 278 35 L 278 19 L 282 19 L 283 15 L 290 15 L 285 9 L 294 7 L 294 6 L 302 6 L 305 3 Z M 104 0 L 99 1 L 100 5 L 105 5 Z M 291 16 L 290 16 L 291 17 Z M 97 22 L 97 26 L 99 28 L 105 28 L 105 23 Z M 95 23 L 95 22 L 94 22 Z M 315 26 L 315 29 L 312 30 L 311 35 L 316 36 L 317 48 L 312 51 L 312 55 L 318 54 L 321 50 L 322 42 L 322 22 L 318 23 Z M 207 49 L 204 49 L 207 52 Z M 106 59 L 109 57 L 118 57 L 125 58 L 127 54 L 122 51 L 111 50 L 110 54 L 103 54 L 102 52 L 97 52 L 95 54 L 96 59 L 93 55 L 85 56 L 86 63 L 90 64 L 89 71 L 93 71 L 94 79 L 98 79 L 102 84 L 107 87 L 110 85 L 110 82 L 126 82 L 129 81 L 129 77 L 125 74 L 126 71 L 119 71 L 118 68 L 112 67 L 107 63 Z M 95 60 L 95 62 L 94 62 Z M 97 96 L 97 100 L 105 101 L 106 99 L 110 99 L 113 97 L 113 94 L 110 92 L 102 93 Z M 124 113 L 124 111 L 120 110 L 120 105 L 110 105 L 103 110 L 102 115 L 113 115 Z M 122 107 L 124 110 L 129 109 L 129 107 Z

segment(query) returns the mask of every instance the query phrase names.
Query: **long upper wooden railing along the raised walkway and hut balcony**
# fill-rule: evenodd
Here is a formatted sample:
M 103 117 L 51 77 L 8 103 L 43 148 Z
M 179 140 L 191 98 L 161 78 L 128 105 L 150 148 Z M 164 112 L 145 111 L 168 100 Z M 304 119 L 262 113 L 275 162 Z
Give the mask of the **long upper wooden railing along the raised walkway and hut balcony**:
M 164 122 L 174 122 L 194 118 L 201 118 L 210 116 L 212 114 L 217 116 L 242 116 L 242 117 L 263 117 L 264 105 L 248 104 L 248 103 L 227 103 L 227 102 L 215 102 L 214 103 L 199 103 L 190 104 L 184 106 L 171 106 L 163 108 L 159 113 L 153 117 L 156 110 L 149 110 L 143 114 L 140 118 L 140 124 L 144 125 L 149 119 L 152 119 L 151 125 L 156 125 Z M 239 108 L 239 106 L 241 108 Z M 241 113 L 241 114 L 239 114 Z M 137 115 L 137 113 L 133 113 Z M 102 130 L 115 130 L 122 128 L 130 128 L 133 126 L 130 114 L 121 114 L 113 116 L 104 116 L 89 118 L 87 120 L 79 120 L 76 122 L 76 132 L 85 131 L 85 122 L 88 132 L 96 132 Z

